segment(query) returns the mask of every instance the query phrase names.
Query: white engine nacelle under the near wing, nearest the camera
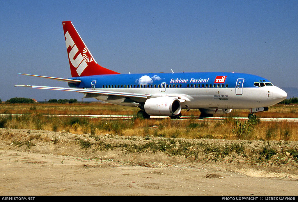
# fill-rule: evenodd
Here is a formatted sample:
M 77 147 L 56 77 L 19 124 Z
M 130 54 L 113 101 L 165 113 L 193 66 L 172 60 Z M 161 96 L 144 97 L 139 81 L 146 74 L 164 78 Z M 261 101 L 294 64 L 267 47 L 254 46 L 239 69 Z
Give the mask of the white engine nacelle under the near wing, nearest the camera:
M 172 97 L 150 98 L 146 100 L 144 109 L 149 115 L 176 116 L 181 112 L 181 103 Z

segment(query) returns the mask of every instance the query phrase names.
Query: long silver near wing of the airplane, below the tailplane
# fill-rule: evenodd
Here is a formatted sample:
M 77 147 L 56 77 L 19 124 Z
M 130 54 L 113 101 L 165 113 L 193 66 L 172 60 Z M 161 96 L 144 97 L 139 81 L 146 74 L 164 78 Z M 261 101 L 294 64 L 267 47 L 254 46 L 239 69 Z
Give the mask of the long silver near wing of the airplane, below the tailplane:
M 35 85 L 15 85 L 15 87 L 31 87 L 36 89 L 46 89 L 46 90 L 61 90 L 61 91 L 70 91 L 78 92 L 84 94 L 97 94 L 97 95 L 106 95 L 106 96 L 120 96 L 120 97 L 131 97 L 131 98 L 150 98 L 151 95 L 146 94 L 137 94 L 137 93 L 125 93 L 125 92 L 114 92 L 114 91 L 105 91 L 105 90 L 91 90 L 91 89 L 82 89 L 82 88 L 60 88 L 60 87 L 51 87 L 51 86 L 35 86 Z

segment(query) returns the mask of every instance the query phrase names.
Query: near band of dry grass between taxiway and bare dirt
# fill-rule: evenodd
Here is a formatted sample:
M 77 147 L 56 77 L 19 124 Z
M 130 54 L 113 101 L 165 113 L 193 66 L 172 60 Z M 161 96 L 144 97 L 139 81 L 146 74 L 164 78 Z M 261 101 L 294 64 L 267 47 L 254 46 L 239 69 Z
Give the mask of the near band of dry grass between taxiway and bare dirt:
M 170 120 L 170 118 L 105 120 L 84 117 L 52 117 L 41 114 L 0 116 L 1 128 L 29 128 L 71 133 L 187 139 L 298 140 L 298 123 L 217 120 Z

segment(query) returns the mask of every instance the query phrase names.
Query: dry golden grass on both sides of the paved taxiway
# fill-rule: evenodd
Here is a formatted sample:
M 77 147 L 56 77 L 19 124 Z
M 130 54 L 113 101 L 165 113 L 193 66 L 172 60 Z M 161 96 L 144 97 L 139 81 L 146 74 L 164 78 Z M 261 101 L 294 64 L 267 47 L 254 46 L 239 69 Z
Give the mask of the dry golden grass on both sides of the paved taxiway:
M 71 133 L 117 134 L 123 136 L 157 136 L 171 138 L 211 138 L 246 140 L 298 140 L 298 123 L 236 122 L 229 117 L 247 117 L 248 110 L 233 110 L 223 114 L 224 121 L 162 120 L 133 118 L 131 120 L 101 120 L 79 117 L 51 117 L 43 114 L 109 114 L 135 115 L 139 109 L 112 104 L 1 104 L 0 114 L 27 114 L 0 117 L 2 128 L 32 128 Z M 199 116 L 199 110 L 183 111 L 184 116 Z M 297 105 L 275 105 L 258 117 L 298 117 Z

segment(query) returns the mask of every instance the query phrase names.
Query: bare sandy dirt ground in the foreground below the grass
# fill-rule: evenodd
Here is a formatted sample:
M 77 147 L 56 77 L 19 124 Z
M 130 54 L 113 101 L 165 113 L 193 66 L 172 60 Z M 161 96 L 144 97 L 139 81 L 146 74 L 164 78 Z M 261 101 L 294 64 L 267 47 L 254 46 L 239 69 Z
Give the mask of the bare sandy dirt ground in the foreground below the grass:
M 160 138 L 90 136 L 30 129 L 0 129 L 1 195 L 297 195 L 298 169 L 291 155 L 283 164 L 241 155 L 219 160 L 145 150 L 127 152 L 116 144 L 145 144 Z M 176 140 L 176 139 L 175 139 Z M 98 149 L 96 142 L 106 149 Z M 178 141 L 178 140 L 177 140 Z M 197 139 L 217 145 L 241 143 L 246 150 L 264 141 Z M 86 144 L 80 144 L 86 143 Z M 90 144 L 87 144 L 90 143 Z M 270 141 L 277 148 L 297 142 Z M 108 146 L 107 146 L 108 145 Z M 188 149 L 192 149 L 191 147 Z M 257 152 L 256 152 L 257 153 Z M 281 156 L 282 155 L 282 156 Z

